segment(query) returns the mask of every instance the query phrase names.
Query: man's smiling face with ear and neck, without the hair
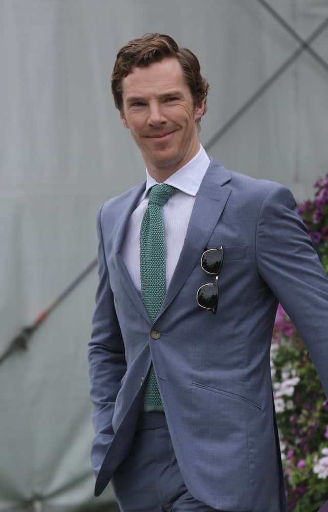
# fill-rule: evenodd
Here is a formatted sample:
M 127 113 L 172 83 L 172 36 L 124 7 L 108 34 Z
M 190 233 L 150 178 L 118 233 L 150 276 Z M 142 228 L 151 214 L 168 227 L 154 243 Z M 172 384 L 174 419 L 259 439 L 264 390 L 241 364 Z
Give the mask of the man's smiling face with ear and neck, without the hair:
M 121 119 L 138 145 L 149 174 L 163 182 L 199 150 L 196 121 L 204 101 L 194 105 L 182 68 L 165 58 L 134 68 L 122 79 Z

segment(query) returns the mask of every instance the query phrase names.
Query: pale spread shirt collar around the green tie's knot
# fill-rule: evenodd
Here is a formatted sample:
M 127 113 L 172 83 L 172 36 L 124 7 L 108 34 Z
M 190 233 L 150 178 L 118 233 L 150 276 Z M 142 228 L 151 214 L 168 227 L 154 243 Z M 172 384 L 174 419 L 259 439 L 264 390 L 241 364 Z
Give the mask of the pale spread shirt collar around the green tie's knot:
M 204 150 L 204 147 L 200 144 L 199 152 L 183 167 L 172 174 L 172 176 L 167 178 L 164 183 L 178 188 L 178 190 L 181 190 L 185 194 L 189 194 L 189 196 L 195 196 L 198 193 L 209 163 L 210 159 Z M 140 198 L 141 201 L 145 199 L 152 186 L 159 185 L 158 181 L 149 175 L 147 169 L 146 175 L 146 188 Z

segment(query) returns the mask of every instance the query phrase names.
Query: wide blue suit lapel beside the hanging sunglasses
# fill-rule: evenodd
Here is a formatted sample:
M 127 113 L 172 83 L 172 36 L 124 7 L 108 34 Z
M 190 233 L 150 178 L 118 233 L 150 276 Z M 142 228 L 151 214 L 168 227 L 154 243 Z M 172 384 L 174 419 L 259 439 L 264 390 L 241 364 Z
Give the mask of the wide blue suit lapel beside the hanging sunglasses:
M 200 259 L 230 196 L 231 189 L 222 186 L 230 179 L 229 171 L 211 160 L 196 194 L 186 238 L 159 315 L 172 302 Z

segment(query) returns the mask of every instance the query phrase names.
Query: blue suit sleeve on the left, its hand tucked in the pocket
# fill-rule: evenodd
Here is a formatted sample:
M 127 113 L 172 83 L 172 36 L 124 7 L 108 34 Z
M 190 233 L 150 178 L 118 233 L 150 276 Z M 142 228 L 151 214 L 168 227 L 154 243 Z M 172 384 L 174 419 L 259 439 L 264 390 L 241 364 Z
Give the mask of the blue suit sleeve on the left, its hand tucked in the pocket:
M 96 475 L 114 437 L 112 418 L 115 400 L 126 370 L 124 344 L 104 253 L 101 210 L 102 207 L 97 216 L 99 284 L 91 341 L 88 345 L 90 397 L 93 403 L 92 419 L 95 431 L 91 461 Z

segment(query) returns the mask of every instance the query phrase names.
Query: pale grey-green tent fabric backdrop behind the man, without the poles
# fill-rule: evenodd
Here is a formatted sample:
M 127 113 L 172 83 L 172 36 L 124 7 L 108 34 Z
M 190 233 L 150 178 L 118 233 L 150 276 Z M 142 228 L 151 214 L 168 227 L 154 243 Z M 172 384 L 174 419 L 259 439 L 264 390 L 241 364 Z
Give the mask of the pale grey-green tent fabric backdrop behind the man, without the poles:
M 307 38 L 327 0 L 271 0 Z M 297 48 L 256 0 L 0 0 L 0 350 L 95 257 L 99 205 L 144 178 L 110 92 L 115 56 L 168 33 L 210 82 L 206 145 Z M 313 48 L 328 60 L 328 30 Z M 297 199 L 328 172 L 328 73 L 306 52 L 210 155 Z M 86 344 L 97 272 L 0 366 L 0 510 L 92 510 Z M 29 508 L 30 507 L 30 508 Z

